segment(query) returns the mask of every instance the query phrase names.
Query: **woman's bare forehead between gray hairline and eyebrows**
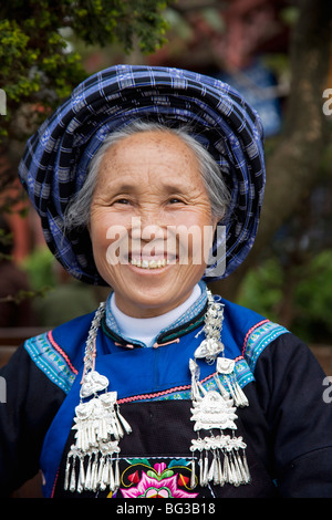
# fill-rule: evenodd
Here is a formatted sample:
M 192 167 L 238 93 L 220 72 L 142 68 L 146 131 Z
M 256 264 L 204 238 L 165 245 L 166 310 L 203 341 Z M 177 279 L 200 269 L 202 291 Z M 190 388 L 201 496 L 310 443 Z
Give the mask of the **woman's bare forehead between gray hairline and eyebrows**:
M 138 132 L 117 141 L 104 152 L 95 175 L 95 193 L 206 195 L 194 150 L 181 137 L 163 131 Z

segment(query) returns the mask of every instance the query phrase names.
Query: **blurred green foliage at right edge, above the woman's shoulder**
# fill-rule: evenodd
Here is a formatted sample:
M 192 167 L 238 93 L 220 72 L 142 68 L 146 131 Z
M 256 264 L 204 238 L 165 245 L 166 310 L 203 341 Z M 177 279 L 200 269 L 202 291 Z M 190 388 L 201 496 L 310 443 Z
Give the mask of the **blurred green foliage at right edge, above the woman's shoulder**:
M 312 256 L 291 272 L 271 257 L 248 273 L 238 302 L 272 321 L 282 322 L 308 343 L 331 343 L 332 249 Z

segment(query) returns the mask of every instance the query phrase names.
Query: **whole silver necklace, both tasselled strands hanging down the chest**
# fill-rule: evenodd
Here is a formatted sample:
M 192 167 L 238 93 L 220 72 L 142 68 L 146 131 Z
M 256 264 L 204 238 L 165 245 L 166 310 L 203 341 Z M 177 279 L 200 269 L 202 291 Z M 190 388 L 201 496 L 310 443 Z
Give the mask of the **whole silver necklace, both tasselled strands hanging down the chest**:
M 221 330 L 224 305 L 215 302 L 207 290 L 208 309 L 201 332 L 205 340 L 189 360 L 191 374 L 191 420 L 197 438 L 191 440 L 191 479 L 194 489 L 198 483 L 209 482 L 239 486 L 250 482 L 246 459 L 246 444 L 236 437 L 237 407 L 249 403 L 235 377 L 235 362 L 224 355 Z M 96 336 L 105 303 L 101 303 L 92 321 L 84 353 L 84 372 L 81 381 L 80 404 L 75 407 L 75 441 L 66 458 L 64 489 L 72 492 L 115 492 L 120 487 L 120 440 L 132 433 L 131 425 L 120 413 L 117 393 L 108 392 L 108 378 L 95 371 Z M 221 356 L 220 356 L 221 354 Z M 207 391 L 199 382 L 198 358 L 216 363 L 215 389 Z M 220 377 L 226 383 L 225 388 Z M 230 435 L 225 435 L 230 430 Z M 204 437 L 200 434 L 204 434 Z M 217 434 L 216 434 L 217 431 Z M 196 476 L 196 457 L 199 453 L 199 475 Z M 79 464 L 77 464 L 79 461 Z

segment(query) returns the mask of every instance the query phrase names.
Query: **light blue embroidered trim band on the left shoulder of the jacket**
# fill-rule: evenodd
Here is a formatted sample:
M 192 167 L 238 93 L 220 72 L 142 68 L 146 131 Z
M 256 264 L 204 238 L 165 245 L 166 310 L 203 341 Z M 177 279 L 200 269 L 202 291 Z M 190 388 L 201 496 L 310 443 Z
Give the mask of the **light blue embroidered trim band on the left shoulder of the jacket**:
M 55 343 L 52 333 L 43 333 L 27 340 L 24 349 L 37 366 L 68 394 L 77 371 L 64 351 Z

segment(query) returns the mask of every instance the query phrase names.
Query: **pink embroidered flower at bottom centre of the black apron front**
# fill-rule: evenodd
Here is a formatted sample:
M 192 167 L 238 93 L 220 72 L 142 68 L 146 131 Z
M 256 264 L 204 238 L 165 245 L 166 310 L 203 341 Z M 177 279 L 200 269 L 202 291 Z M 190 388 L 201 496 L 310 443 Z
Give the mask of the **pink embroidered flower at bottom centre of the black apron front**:
M 162 469 L 160 467 L 158 468 Z M 160 480 L 148 477 L 142 471 L 142 478 L 136 487 L 121 489 L 124 498 L 195 498 L 198 493 L 188 493 L 177 487 L 177 475 Z

